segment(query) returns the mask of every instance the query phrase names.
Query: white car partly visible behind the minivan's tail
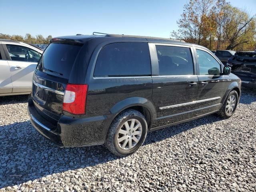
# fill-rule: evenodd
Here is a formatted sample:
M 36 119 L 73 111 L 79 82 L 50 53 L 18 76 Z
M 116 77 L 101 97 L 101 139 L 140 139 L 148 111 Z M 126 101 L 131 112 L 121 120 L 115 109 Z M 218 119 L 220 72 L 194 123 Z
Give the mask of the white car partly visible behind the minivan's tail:
M 26 43 L 0 39 L 0 96 L 30 94 L 42 53 Z

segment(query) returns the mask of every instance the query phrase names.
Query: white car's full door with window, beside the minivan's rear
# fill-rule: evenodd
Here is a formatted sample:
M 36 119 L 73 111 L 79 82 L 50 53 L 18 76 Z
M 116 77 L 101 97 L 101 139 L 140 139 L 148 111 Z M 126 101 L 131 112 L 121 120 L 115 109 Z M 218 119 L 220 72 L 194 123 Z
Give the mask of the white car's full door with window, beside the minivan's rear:
M 4 44 L 12 78 L 12 92 L 30 92 L 32 76 L 41 56 L 38 51 L 24 44 Z

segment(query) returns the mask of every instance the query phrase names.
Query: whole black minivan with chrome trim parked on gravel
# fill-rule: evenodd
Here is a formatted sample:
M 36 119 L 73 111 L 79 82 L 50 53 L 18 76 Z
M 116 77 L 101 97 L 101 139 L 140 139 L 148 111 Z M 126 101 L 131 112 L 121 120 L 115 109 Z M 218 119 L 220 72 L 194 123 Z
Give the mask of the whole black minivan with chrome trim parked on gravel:
M 241 80 L 202 46 L 125 35 L 50 40 L 33 76 L 32 125 L 63 147 L 135 152 L 149 131 L 234 114 Z

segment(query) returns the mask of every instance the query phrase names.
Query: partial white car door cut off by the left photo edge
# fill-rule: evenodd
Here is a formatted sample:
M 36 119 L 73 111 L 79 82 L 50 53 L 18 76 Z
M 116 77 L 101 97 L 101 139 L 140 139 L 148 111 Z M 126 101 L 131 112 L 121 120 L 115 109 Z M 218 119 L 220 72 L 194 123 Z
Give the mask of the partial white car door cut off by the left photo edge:
M 0 43 L 0 95 L 12 92 L 10 67 Z

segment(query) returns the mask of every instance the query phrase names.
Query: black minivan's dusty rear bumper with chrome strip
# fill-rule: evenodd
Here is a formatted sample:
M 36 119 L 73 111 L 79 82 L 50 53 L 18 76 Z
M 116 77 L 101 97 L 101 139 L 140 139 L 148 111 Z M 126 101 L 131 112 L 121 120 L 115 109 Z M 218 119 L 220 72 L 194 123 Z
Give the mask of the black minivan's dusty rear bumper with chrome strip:
M 108 129 L 105 116 L 72 119 L 62 116 L 57 124 L 44 119 L 33 104 L 28 114 L 34 128 L 47 139 L 62 147 L 81 147 L 104 144 Z

